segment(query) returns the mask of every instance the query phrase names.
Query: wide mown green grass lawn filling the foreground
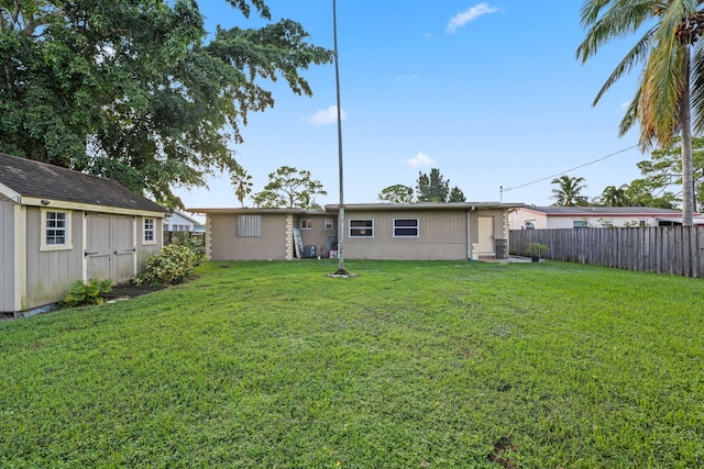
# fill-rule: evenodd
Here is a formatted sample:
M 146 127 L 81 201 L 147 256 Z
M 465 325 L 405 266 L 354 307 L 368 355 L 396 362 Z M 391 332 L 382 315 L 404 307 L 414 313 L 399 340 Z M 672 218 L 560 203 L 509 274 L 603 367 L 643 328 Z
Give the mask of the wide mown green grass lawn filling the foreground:
M 0 467 L 704 467 L 702 280 L 345 267 L 0 323 Z

